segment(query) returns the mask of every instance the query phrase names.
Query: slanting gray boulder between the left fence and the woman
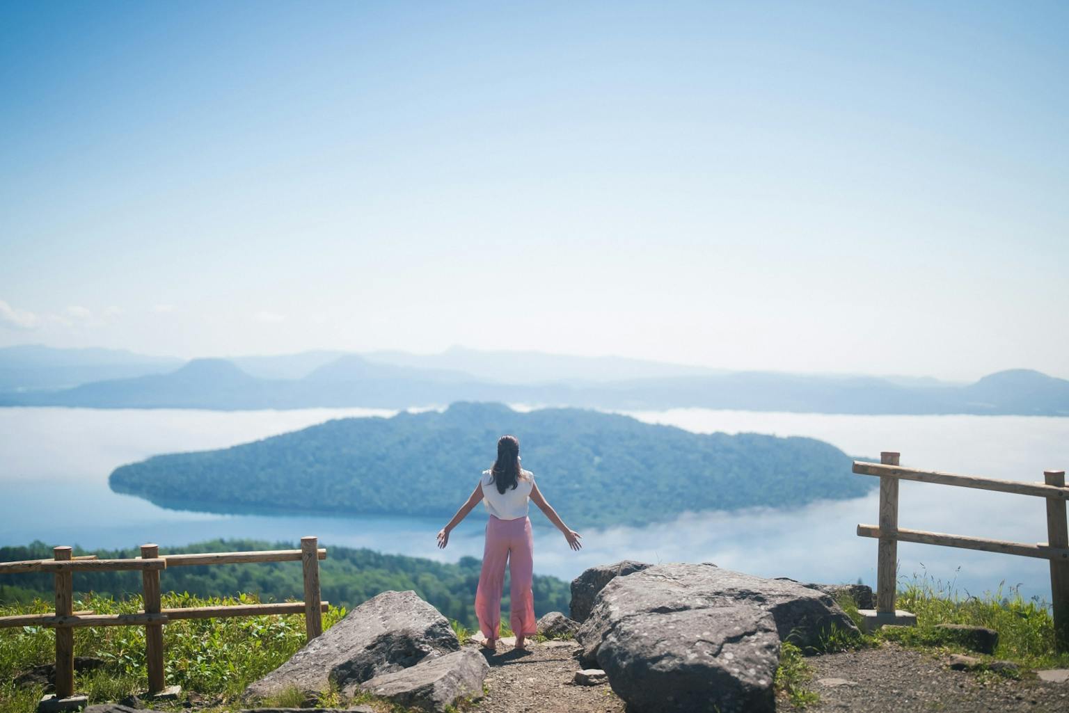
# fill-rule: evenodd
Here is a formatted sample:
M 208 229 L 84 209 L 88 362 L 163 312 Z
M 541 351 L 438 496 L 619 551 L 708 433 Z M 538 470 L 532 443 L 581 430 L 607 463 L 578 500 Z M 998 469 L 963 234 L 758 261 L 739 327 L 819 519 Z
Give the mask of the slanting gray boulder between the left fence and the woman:
M 322 693 L 415 666 L 461 648 L 438 610 L 414 591 L 386 591 L 350 611 L 274 671 L 249 685 L 247 698 L 291 687 Z

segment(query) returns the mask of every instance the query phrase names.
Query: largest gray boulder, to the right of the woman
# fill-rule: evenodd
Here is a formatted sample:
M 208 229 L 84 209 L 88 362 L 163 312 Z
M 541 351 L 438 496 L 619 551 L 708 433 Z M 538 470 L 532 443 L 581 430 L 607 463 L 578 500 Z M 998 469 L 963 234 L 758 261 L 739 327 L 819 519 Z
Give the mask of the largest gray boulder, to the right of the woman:
M 609 582 L 576 638 L 634 711 L 775 710 L 779 644 L 856 631 L 834 600 L 712 564 L 661 564 Z

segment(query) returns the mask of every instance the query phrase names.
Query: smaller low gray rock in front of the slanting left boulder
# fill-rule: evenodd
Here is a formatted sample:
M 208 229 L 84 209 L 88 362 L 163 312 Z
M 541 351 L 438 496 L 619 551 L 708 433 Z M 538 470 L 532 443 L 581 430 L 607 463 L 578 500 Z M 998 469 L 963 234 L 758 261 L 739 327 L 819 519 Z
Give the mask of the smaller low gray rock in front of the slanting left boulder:
M 461 698 L 482 698 L 482 682 L 490 672 L 486 658 L 474 648 L 425 658 L 412 668 L 383 673 L 370 681 L 342 688 L 346 696 L 367 691 L 381 698 L 423 711 L 444 713 Z

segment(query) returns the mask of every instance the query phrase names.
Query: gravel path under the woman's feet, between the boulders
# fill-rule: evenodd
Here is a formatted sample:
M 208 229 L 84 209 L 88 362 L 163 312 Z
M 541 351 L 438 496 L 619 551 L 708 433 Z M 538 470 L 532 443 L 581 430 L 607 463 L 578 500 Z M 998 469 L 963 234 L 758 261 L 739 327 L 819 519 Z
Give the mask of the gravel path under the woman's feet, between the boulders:
M 623 713 L 624 704 L 607 683 L 573 683 L 579 662 L 573 657 L 575 641 L 529 642 L 516 651 L 499 642 L 487 655 L 489 693 L 475 707 L 479 713 Z

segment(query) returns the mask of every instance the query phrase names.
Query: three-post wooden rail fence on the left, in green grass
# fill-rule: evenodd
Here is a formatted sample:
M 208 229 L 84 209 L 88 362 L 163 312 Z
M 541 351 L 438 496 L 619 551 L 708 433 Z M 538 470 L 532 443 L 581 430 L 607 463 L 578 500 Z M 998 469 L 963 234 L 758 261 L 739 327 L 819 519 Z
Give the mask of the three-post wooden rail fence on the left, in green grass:
M 0 562 L 0 574 L 53 572 L 56 574 L 56 611 L 0 617 L 6 626 L 51 626 L 56 629 L 56 698 L 74 695 L 74 630 L 78 626 L 144 626 L 145 662 L 149 669 L 149 694 L 164 691 L 164 624 L 179 619 L 214 617 L 261 617 L 264 615 L 304 614 L 305 630 L 311 640 L 323 633 L 323 611 L 328 602 L 320 600 L 320 562 L 327 551 L 314 537 L 301 538 L 300 549 L 265 552 L 227 552 L 202 555 L 160 555 L 155 544 L 141 545 L 141 557 L 97 559 L 95 555 L 72 557 L 71 547 L 55 547 L 53 559 Z M 304 564 L 305 601 L 283 604 L 245 604 L 241 606 L 197 606 L 164 609 L 160 603 L 159 573 L 172 567 L 195 564 L 236 564 L 242 562 L 289 562 Z M 75 572 L 140 571 L 144 609 L 137 614 L 107 614 L 74 610 Z

